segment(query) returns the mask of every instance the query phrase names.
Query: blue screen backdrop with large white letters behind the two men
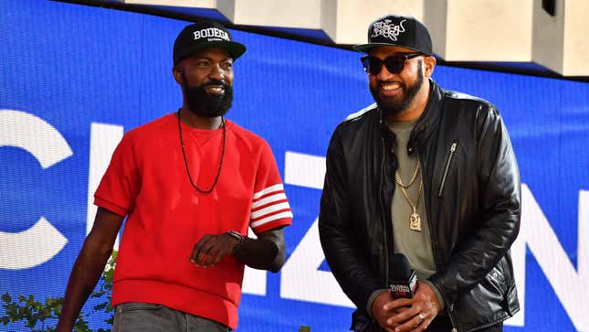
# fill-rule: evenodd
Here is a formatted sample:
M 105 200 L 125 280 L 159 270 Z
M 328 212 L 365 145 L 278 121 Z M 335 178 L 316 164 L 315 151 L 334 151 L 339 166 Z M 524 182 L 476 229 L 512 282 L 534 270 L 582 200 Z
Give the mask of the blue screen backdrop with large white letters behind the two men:
M 0 0 L 0 294 L 64 294 L 93 217 L 89 196 L 101 174 L 92 169 L 110 157 L 104 133 L 181 105 L 172 45 L 186 24 Z M 295 214 L 285 268 L 244 282 L 238 330 L 347 330 L 352 308 L 322 260 L 316 219 L 331 132 L 373 102 L 359 55 L 232 33 L 247 53 L 236 62 L 228 117 L 268 140 Z M 443 66 L 434 78 L 497 105 L 521 167 L 512 254 L 522 310 L 506 331 L 589 331 L 589 84 Z M 105 326 L 96 318 L 90 327 Z M 0 326 L 14 330 L 26 329 Z

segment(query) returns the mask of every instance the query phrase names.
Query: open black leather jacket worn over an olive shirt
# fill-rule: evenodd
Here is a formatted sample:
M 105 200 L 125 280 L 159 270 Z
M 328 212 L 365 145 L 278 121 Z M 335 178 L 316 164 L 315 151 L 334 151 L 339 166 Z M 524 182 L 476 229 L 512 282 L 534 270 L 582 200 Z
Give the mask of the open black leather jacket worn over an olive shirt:
M 521 183 L 510 138 L 489 102 L 430 80 L 425 112 L 407 153 L 424 178 L 436 285 L 458 331 L 503 321 L 520 307 L 510 245 L 520 229 Z M 321 196 L 321 246 L 358 308 L 352 328 L 374 326 L 366 302 L 387 287 L 393 253 L 394 134 L 376 106 L 335 130 Z M 366 328 L 366 330 L 371 330 Z

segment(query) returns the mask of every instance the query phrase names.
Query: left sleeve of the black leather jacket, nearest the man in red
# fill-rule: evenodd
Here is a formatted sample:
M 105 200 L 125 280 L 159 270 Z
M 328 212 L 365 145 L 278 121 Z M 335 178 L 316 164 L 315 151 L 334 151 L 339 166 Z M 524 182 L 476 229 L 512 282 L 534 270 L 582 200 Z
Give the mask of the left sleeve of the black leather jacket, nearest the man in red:
M 365 313 L 370 295 L 384 287 L 370 270 L 362 253 L 351 220 L 352 202 L 349 198 L 350 183 L 346 178 L 347 165 L 342 145 L 337 137 L 331 137 L 327 152 L 327 172 L 321 194 L 319 232 L 321 246 L 331 273 L 352 300 L 360 313 Z

